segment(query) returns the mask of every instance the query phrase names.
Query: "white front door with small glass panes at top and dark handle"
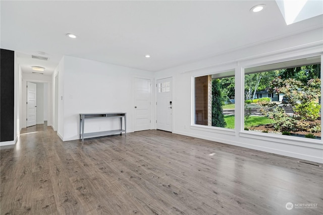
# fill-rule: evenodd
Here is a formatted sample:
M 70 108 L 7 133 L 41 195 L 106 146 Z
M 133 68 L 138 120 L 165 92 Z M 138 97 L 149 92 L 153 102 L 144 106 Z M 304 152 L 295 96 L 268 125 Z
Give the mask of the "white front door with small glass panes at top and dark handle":
M 173 131 L 172 78 L 157 80 L 157 129 Z

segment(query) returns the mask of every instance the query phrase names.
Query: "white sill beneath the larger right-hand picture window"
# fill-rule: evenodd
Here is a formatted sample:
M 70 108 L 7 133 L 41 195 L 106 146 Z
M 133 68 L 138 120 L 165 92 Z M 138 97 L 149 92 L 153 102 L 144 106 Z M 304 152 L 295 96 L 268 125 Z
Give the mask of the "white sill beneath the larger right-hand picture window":
M 261 139 L 267 141 L 275 141 L 282 144 L 310 147 L 315 149 L 323 149 L 322 139 L 311 139 L 306 137 L 287 136 L 275 133 L 262 133 L 257 131 L 240 131 L 239 136 Z

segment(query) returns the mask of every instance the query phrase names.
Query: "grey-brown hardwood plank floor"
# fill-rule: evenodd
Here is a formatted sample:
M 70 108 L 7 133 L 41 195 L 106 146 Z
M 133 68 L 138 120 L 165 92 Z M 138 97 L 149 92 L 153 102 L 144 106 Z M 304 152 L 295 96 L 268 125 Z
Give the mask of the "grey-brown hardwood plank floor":
M 0 152 L 2 215 L 323 211 L 322 168 L 170 132 L 62 142 L 36 125 Z

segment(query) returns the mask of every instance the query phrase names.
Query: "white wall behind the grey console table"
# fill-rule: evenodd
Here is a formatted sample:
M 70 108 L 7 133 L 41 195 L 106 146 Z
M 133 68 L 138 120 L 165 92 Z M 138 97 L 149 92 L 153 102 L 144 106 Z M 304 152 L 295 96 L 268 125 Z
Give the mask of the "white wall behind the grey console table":
M 153 78 L 149 71 L 64 56 L 64 68 L 59 71 L 60 88 L 64 83 L 62 121 L 58 132 L 63 140 L 79 138 L 80 113 L 126 112 L 127 132 L 133 130 L 134 77 Z M 63 76 L 62 73 L 63 71 Z M 60 117 L 62 120 L 62 117 Z M 119 129 L 119 120 L 88 120 L 85 132 Z M 100 129 L 100 130 L 99 130 Z

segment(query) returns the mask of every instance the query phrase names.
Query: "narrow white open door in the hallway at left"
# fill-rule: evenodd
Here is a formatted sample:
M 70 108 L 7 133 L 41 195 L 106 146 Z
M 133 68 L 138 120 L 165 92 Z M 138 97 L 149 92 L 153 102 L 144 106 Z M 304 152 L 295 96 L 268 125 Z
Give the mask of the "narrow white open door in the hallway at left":
M 36 125 L 36 84 L 27 82 L 27 127 Z

